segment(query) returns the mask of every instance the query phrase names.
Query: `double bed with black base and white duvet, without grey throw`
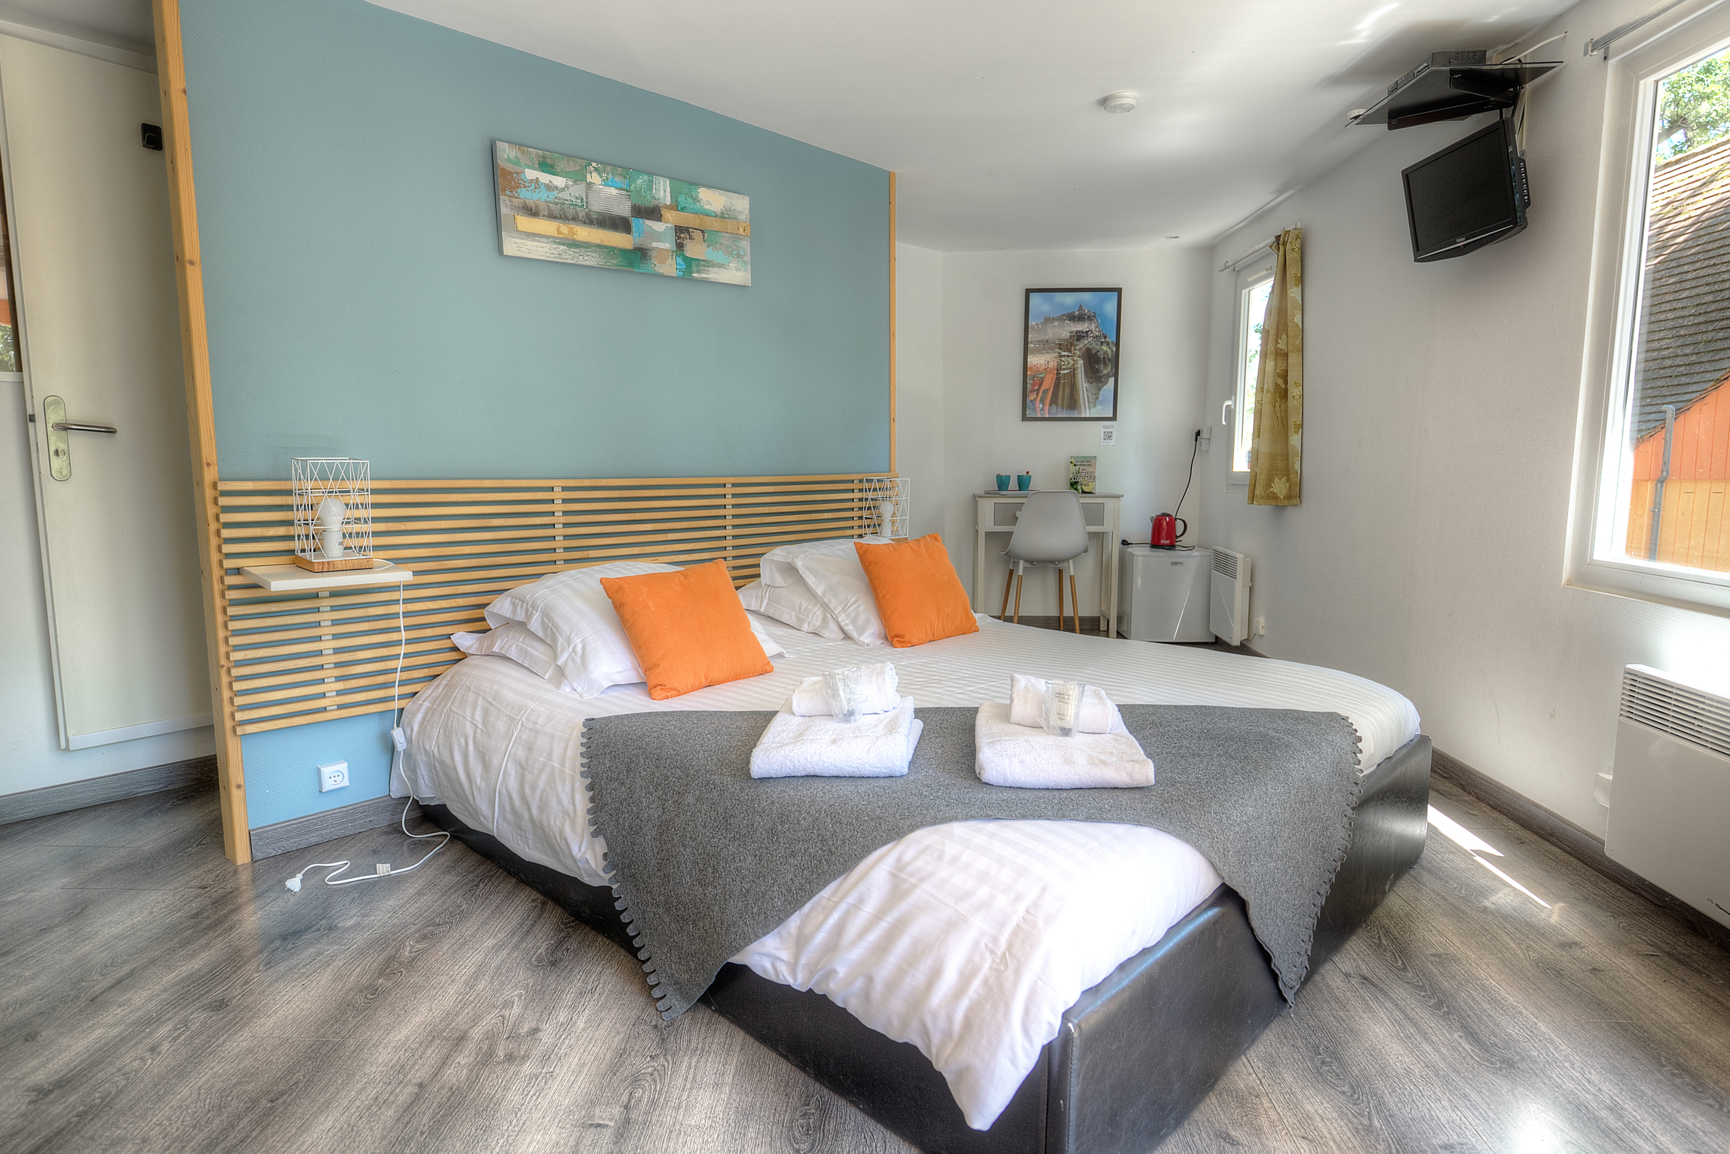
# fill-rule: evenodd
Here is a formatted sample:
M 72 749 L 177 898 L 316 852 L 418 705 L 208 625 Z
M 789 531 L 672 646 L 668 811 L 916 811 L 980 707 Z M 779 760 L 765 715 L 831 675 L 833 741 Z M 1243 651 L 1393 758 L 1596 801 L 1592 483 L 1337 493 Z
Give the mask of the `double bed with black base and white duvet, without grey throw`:
M 604 844 L 588 822 L 580 777 L 585 721 L 659 709 L 777 709 L 804 676 L 893 661 L 900 690 L 920 708 L 1002 701 L 1009 675 L 1024 671 L 1099 685 L 1118 702 L 1344 715 L 1360 737 L 1362 794 L 1351 846 L 1317 924 L 1311 971 L 1422 853 L 1429 742 L 1419 734 L 1412 702 L 1365 678 L 990 618 L 979 619 L 977 633 L 912 649 L 825 640 L 768 618 L 756 623 L 785 651 L 773 657 L 773 673 L 666 701 L 650 701 L 644 685 L 614 685 L 580 699 L 507 657 L 467 657 L 408 706 L 408 751 L 393 792 L 413 792 L 434 822 L 637 953 L 602 872 Z M 996 829 L 981 832 L 983 825 Z M 1043 825 L 1054 829 L 1036 829 Z M 820 894 L 827 894 L 827 905 L 813 900 L 775 934 L 740 952 L 704 1000 L 926 1151 L 1152 1149 L 1284 1009 L 1284 1000 L 1242 900 L 1194 849 L 1176 839 L 1169 839 L 1175 846 L 1149 844 L 1145 837 L 1135 846 L 1123 837 L 1112 841 L 1114 830 L 1142 827 L 1078 834 L 1059 825 L 1083 824 L 964 822 L 936 830 L 936 849 L 926 846 L 929 860 L 960 862 L 979 856 L 991 839 L 1017 832 L 1026 837 L 1024 856 L 1033 860 L 1026 869 L 995 863 L 969 877 L 939 865 L 900 891 L 872 888 L 872 879 L 894 872 L 894 860 L 875 863 L 875 874 L 855 870 Z M 1073 841 L 1078 836 L 1083 841 Z M 1123 856 L 1133 853 L 1142 856 Z M 924 869 L 908 865 L 922 860 L 901 860 L 900 872 Z M 1057 917 L 1111 886 L 1123 863 L 1138 870 L 1138 884 L 1123 901 L 1133 926 Z M 967 908 L 965 894 L 983 889 L 990 875 L 1000 877 L 1010 896 L 1029 894 L 1024 907 L 1010 901 L 1007 912 L 977 903 Z M 915 957 L 905 939 L 900 946 L 836 939 L 843 931 L 834 926 L 846 920 L 837 910 L 863 910 L 863 920 L 882 922 L 912 910 L 920 898 L 929 907 L 920 917 L 941 931 L 946 950 L 995 952 L 996 984 L 962 981 L 950 972 L 953 967 L 934 965 L 917 988 L 898 988 L 881 979 L 882 958 L 894 958 L 896 948 Z M 1055 912 L 1045 917 L 1050 924 L 1036 926 L 1031 936 L 1024 926 L 1016 929 L 1017 910 L 1026 922 L 1040 901 Z M 945 924 L 943 917 L 952 920 Z M 1022 938 L 1014 938 L 1012 929 Z M 1010 938 L 1033 945 L 1016 953 Z M 1017 984 L 1016 978 L 1035 965 L 1026 960 L 1031 953 L 1047 967 L 1041 981 Z M 1057 978 L 1043 981 L 1045 974 Z M 981 1031 L 969 1033 L 962 1021 L 967 1014 L 945 1014 L 945 1007 L 969 1014 L 969 1007 L 996 1007 L 1003 1021 L 995 1033 L 983 1031 L 988 1036 L 981 1042 Z M 969 1045 L 972 1052 L 957 1057 Z M 986 1126 L 976 1128 L 981 1123 Z

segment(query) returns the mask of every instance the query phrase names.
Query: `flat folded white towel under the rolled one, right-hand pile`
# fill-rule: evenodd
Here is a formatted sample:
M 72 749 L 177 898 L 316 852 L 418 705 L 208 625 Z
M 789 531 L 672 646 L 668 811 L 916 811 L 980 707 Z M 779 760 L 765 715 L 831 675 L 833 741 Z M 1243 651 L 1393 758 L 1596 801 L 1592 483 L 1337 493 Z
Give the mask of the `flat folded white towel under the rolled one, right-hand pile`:
M 1054 737 L 1016 725 L 1009 706 L 988 701 L 974 720 L 974 770 L 988 785 L 1021 789 L 1135 789 L 1154 784 L 1154 763 L 1123 727 L 1109 734 Z

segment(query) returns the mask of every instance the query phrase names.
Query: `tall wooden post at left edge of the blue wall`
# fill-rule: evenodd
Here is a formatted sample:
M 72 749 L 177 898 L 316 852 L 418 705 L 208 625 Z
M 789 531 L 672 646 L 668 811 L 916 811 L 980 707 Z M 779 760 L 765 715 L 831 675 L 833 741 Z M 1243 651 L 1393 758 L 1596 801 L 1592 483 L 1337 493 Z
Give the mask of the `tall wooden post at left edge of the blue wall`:
M 175 234 L 175 287 L 180 294 L 180 356 L 187 367 L 187 431 L 199 528 L 199 574 L 204 638 L 211 666 L 211 715 L 216 720 L 216 782 L 221 844 L 230 862 L 253 860 L 246 818 L 246 773 L 234 716 L 234 676 L 221 631 L 223 564 L 216 509 L 216 422 L 211 408 L 211 356 L 204 330 L 204 268 L 199 263 L 199 206 L 192 185 L 192 137 L 187 119 L 187 62 L 180 50 L 180 0 L 152 0 L 156 76 L 163 92 L 163 147 L 168 157 L 168 213 Z

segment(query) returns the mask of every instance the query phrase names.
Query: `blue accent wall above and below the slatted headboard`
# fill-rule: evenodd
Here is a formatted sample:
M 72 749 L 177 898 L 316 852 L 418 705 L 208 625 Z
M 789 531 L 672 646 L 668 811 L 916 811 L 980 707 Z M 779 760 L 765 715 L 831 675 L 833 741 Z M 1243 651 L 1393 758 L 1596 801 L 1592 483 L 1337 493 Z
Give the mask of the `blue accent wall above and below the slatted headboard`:
M 362 0 L 182 17 L 225 479 L 887 467 L 884 170 Z M 493 140 L 749 196 L 753 284 L 500 256 Z M 251 824 L 382 794 L 388 728 L 247 735 Z

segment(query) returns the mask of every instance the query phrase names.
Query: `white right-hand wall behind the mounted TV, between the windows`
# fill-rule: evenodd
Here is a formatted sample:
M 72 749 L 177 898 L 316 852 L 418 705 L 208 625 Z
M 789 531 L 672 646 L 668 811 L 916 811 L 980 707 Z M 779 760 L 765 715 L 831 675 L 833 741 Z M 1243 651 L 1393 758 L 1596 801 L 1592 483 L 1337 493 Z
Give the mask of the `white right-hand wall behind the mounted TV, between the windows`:
M 1204 486 L 1209 543 L 1254 561 L 1253 644 L 1400 689 L 1441 749 L 1597 832 L 1621 666 L 1730 647 L 1721 618 L 1562 587 L 1604 112 L 1604 62 L 1579 45 L 1647 7 L 1592 0 L 1545 33 L 1569 29 L 1531 90 L 1524 234 L 1415 265 L 1400 170 L 1479 123 L 1355 128 L 1381 140 L 1213 261 L 1304 228 L 1303 505 L 1246 505 L 1218 450 Z M 1213 285 L 1218 414 L 1235 301 L 1230 273 Z

